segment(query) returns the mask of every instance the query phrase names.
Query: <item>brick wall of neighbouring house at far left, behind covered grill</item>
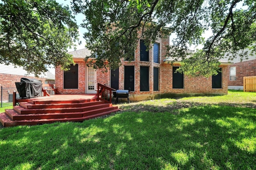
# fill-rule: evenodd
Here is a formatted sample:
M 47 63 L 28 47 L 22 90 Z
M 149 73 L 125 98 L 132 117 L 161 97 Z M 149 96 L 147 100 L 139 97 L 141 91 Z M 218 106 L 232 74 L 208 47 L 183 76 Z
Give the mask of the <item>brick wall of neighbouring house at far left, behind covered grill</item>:
M 20 82 L 24 75 L 2 74 L 0 73 L 0 86 L 3 87 L 16 87 L 15 82 Z M 44 83 L 45 78 L 26 76 L 26 78 L 38 79 Z

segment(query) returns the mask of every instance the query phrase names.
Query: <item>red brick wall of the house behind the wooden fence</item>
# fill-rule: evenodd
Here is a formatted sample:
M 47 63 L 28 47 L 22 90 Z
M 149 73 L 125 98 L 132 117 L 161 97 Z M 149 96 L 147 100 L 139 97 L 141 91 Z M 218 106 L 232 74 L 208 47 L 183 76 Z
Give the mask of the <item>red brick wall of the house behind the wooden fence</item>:
M 256 76 L 256 59 L 250 61 L 243 61 L 239 63 L 234 63 L 228 66 L 228 71 L 230 67 L 236 67 L 236 80 L 231 80 L 228 78 L 229 86 L 243 86 L 243 77 L 245 76 Z M 229 76 L 228 72 L 228 76 Z

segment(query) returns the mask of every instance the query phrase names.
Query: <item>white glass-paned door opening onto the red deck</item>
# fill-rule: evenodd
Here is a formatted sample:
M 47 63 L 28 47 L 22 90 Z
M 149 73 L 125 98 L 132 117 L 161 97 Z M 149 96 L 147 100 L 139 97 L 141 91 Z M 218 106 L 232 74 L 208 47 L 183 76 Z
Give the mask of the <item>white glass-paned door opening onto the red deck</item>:
M 97 93 L 97 71 L 93 67 L 86 68 L 86 93 Z

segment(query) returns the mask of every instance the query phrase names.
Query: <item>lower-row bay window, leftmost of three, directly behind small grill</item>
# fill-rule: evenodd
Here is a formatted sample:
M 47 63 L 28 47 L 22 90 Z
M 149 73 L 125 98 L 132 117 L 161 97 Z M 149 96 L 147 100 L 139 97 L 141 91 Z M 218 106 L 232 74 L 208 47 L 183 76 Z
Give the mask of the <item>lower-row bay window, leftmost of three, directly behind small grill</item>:
M 134 66 L 124 66 L 124 90 L 134 91 Z

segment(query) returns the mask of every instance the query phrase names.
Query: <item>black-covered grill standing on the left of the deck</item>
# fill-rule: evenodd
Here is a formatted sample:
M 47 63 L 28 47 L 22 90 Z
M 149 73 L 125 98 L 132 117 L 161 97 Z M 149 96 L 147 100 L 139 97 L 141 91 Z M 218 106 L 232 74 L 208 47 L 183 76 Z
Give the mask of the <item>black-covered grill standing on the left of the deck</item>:
M 20 82 L 15 82 L 17 91 L 22 99 L 38 97 L 42 93 L 42 83 L 38 79 L 21 78 Z

